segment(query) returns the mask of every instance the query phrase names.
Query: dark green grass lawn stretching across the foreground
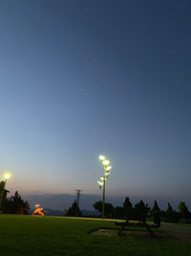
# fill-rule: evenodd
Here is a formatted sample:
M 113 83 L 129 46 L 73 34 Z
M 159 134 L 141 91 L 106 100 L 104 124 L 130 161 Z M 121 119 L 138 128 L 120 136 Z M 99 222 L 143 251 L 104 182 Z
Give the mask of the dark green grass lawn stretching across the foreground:
M 191 256 L 191 244 L 178 241 L 108 238 L 90 235 L 112 221 L 0 216 L 0 255 Z

